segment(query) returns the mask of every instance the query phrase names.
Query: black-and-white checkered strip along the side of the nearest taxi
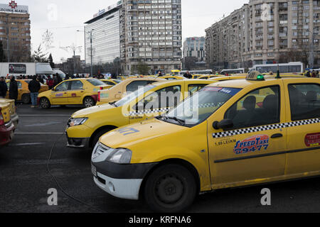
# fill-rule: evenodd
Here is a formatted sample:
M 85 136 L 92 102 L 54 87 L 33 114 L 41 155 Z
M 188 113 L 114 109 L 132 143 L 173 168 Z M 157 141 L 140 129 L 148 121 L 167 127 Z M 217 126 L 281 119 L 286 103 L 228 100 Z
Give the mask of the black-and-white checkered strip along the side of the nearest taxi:
M 289 123 L 277 123 L 274 125 L 268 125 L 268 126 L 258 126 L 258 127 L 253 127 L 253 128 L 242 128 L 238 130 L 233 130 L 233 131 L 225 131 L 221 133 L 213 133 L 213 138 L 223 138 L 223 137 L 228 137 L 228 136 L 233 136 L 233 135 L 241 135 L 241 134 L 246 134 L 246 133 L 257 133 L 261 131 L 268 131 L 272 129 L 279 129 L 279 128 L 291 128 L 291 127 L 296 127 L 296 126 L 305 126 L 305 125 L 311 125 L 314 123 L 320 123 L 320 118 L 314 118 L 314 119 L 309 119 L 309 120 L 304 120 L 304 121 L 292 121 Z

